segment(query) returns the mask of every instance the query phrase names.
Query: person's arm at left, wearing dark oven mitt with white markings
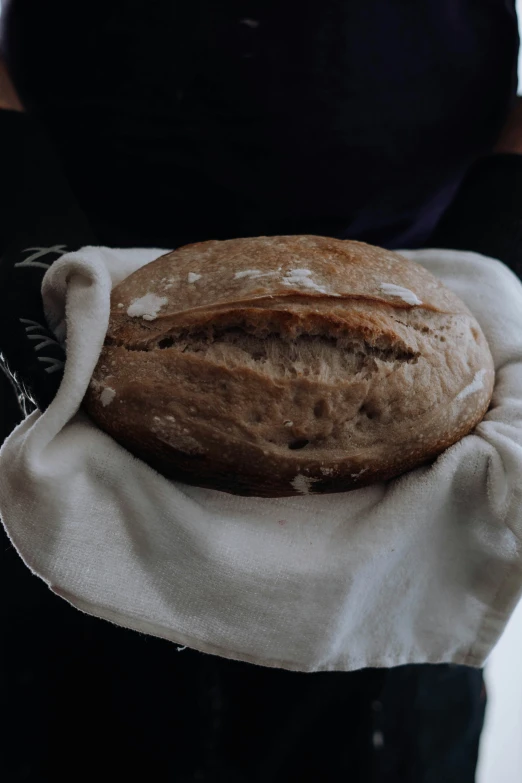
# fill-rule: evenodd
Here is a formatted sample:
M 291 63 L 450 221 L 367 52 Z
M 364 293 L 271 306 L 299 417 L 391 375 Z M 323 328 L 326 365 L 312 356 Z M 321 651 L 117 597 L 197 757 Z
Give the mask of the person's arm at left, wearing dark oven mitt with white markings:
M 0 62 L 0 355 L 19 394 L 41 409 L 61 381 L 62 348 L 41 298 L 47 268 L 96 244 L 45 128 L 23 110 Z

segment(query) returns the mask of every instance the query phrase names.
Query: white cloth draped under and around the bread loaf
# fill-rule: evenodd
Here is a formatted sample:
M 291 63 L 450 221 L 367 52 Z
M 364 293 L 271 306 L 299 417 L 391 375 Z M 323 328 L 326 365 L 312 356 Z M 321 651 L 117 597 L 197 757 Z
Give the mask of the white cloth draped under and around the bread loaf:
M 66 327 L 63 382 L 0 452 L 0 514 L 26 565 L 80 610 L 229 658 L 482 665 L 522 593 L 518 279 L 472 253 L 404 253 L 468 304 L 491 346 L 493 404 L 473 434 L 386 484 L 242 498 L 163 478 L 79 411 L 111 285 L 162 252 L 87 247 L 45 276 L 49 323 Z

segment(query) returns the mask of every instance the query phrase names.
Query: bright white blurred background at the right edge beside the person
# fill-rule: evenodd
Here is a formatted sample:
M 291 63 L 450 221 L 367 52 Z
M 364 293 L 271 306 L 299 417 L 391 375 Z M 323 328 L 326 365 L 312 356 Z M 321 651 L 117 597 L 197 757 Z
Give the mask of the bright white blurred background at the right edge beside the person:
M 522 31 L 522 0 L 517 0 L 517 9 Z M 518 92 L 522 95 L 522 53 L 518 73 Z M 476 783 L 521 783 L 522 602 L 487 663 L 486 682 L 488 711 Z

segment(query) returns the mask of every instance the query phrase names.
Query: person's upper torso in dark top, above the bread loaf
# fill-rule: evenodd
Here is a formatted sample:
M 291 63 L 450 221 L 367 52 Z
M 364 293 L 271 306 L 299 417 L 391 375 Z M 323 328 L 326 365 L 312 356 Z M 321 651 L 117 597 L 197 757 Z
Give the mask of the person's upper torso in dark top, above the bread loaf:
M 24 104 L 119 246 L 422 246 L 517 87 L 514 0 L 11 0 L 2 22 Z

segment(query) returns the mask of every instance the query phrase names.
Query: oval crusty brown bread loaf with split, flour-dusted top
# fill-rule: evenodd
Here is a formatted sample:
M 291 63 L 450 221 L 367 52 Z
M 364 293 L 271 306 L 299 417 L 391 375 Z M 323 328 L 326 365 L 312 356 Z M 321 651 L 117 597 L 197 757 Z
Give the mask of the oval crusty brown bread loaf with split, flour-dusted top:
M 418 264 L 272 236 L 187 245 L 116 286 L 85 404 L 163 475 L 277 497 L 432 460 L 493 383 L 477 321 Z

